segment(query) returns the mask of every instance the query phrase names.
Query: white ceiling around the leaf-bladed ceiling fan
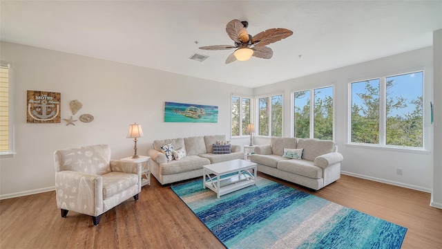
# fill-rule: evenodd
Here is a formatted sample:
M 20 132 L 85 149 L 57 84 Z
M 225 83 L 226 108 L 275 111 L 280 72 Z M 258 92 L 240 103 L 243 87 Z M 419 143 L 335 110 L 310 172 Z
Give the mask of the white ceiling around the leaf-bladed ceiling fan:
M 257 87 L 432 46 L 441 1 L 3 1 L 1 36 L 13 42 Z M 224 64 L 225 26 L 256 35 L 287 28 L 271 59 Z M 198 41 L 198 44 L 195 44 Z M 208 55 L 197 62 L 194 53 Z

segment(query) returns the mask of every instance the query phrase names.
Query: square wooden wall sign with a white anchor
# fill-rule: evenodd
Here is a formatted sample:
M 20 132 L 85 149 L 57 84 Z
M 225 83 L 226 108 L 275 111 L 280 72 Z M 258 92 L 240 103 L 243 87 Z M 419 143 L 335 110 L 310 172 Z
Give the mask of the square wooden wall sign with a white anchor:
M 28 123 L 59 123 L 60 93 L 28 91 Z

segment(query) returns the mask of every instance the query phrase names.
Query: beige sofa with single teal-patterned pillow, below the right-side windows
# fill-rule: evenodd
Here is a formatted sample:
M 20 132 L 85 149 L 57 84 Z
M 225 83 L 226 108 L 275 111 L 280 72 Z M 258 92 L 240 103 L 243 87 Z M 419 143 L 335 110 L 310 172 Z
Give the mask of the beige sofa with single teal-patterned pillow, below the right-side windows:
M 303 149 L 302 158 L 283 157 L 284 149 Z M 271 138 L 270 145 L 255 148 L 250 160 L 257 163 L 258 172 L 320 190 L 340 178 L 343 156 L 331 140 Z

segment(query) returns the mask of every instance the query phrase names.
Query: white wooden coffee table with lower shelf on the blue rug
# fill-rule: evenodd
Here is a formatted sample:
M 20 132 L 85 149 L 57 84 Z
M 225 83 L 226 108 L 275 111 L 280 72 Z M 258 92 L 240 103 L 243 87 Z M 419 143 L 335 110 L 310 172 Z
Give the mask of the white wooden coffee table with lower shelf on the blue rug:
M 205 165 L 202 187 L 213 190 L 216 197 L 256 184 L 256 163 L 247 160 L 229 160 L 222 163 Z M 253 172 L 251 172 L 253 169 Z M 238 174 L 231 174 L 237 172 Z M 231 174 L 226 176 L 227 174 Z

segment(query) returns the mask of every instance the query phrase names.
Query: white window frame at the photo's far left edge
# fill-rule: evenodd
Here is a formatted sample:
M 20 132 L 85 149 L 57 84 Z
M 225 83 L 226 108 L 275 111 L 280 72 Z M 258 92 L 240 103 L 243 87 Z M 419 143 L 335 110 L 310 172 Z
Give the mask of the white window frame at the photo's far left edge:
M 11 62 L 0 61 L 1 67 L 8 67 L 8 151 L 0 152 L 0 158 L 15 156 L 15 132 L 14 132 L 14 66 Z

